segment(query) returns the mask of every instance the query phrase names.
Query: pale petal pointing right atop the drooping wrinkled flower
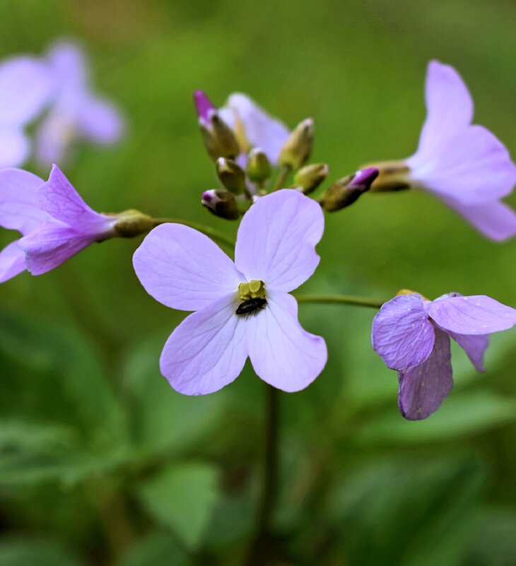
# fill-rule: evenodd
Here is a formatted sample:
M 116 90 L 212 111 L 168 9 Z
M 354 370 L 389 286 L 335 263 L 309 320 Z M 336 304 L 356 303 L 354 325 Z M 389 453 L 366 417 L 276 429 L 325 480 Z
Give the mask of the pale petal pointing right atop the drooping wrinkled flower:
M 486 295 L 435 300 L 428 315 L 442 329 L 457 334 L 491 334 L 516 324 L 516 309 Z

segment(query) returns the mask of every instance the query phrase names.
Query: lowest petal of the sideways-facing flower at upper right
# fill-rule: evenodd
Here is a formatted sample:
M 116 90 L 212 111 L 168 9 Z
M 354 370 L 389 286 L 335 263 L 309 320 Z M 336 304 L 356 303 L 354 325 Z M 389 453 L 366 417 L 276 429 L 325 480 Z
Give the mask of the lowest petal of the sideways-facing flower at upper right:
M 516 235 L 516 213 L 503 202 L 467 205 L 454 199 L 441 200 L 491 240 L 500 242 Z

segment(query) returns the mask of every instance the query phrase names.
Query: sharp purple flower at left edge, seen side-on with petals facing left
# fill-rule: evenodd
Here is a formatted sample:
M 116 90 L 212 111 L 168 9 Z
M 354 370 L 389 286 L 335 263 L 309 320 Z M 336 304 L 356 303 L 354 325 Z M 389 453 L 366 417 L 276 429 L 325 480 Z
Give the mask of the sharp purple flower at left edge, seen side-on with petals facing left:
M 33 275 L 54 269 L 115 235 L 116 222 L 93 211 L 56 165 L 46 183 L 20 169 L 0 170 L 0 225 L 23 235 L 0 252 L 0 283 L 25 269 Z

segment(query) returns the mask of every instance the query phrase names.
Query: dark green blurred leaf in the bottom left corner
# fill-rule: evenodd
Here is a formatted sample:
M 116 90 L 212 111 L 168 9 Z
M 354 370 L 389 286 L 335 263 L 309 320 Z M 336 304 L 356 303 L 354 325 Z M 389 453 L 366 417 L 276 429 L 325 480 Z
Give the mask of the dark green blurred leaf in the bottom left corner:
M 51 541 L 0 538 L 0 566 L 79 566 L 77 558 Z

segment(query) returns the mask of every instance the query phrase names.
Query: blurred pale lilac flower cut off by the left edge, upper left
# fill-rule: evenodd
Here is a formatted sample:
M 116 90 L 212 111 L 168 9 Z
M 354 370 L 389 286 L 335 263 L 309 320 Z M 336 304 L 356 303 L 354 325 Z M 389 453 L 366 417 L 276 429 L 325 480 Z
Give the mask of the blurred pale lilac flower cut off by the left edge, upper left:
M 24 128 L 52 95 L 49 66 L 32 57 L 13 57 L 0 65 L 0 168 L 21 165 L 30 153 Z

